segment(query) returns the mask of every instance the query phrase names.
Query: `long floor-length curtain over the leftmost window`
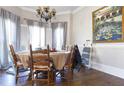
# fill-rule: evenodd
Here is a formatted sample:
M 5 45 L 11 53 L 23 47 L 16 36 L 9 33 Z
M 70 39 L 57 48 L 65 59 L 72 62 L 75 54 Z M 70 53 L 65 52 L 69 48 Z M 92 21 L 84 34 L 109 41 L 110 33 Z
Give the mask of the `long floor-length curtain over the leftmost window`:
M 6 68 L 10 64 L 9 44 L 19 50 L 20 17 L 0 9 L 0 67 Z

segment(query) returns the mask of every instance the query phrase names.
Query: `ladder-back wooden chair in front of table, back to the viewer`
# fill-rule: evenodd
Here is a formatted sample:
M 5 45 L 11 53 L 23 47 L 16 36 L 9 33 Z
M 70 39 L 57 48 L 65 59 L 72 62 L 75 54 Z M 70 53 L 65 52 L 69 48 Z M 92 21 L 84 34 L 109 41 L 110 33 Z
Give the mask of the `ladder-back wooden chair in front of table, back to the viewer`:
M 47 58 L 40 58 L 40 60 L 33 57 L 32 45 L 30 45 L 30 62 L 31 62 L 31 73 L 32 73 L 32 84 L 34 81 L 46 81 L 49 82 L 53 80 L 53 73 L 51 70 L 50 54 L 49 54 L 49 45 L 47 46 Z M 45 72 L 45 73 L 44 73 Z M 41 78 L 38 77 L 38 73 L 41 74 Z M 46 77 L 46 78 L 44 78 Z

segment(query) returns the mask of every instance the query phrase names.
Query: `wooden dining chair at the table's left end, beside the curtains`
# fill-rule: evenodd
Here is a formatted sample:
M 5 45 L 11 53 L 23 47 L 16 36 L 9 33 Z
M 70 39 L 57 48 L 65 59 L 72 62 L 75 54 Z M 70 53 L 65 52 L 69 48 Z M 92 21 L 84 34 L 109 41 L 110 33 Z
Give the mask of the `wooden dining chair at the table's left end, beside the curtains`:
M 22 76 L 19 76 L 19 73 L 28 71 L 28 68 L 27 69 L 23 68 L 23 64 L 17 58 L 17 55 L 16 55 L 15 50 L 13 48 L 13 45 L 9 45 L 9 47 L 10 47 L 10 53 L 11 53 L 11 56 L 12 56 L 12 59 L 13 59 L 13 62 L 14 62 L 14 67 L 15 67 L 15 70 L 16 70 L 16 83 L 17 83 L 18 78 L 22 77 Z M 27 76 L 27 75 L 25 75 L 25 76 Z

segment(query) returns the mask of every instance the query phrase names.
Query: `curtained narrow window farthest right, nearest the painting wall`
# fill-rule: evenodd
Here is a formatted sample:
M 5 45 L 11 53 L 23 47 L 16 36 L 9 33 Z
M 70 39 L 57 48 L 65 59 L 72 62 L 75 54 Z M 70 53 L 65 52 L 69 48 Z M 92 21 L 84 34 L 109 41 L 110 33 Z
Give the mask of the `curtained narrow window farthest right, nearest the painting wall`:
M 63 50 L 66 46 L 67 23 L 52 23 L 52 47 L 56 50 Z

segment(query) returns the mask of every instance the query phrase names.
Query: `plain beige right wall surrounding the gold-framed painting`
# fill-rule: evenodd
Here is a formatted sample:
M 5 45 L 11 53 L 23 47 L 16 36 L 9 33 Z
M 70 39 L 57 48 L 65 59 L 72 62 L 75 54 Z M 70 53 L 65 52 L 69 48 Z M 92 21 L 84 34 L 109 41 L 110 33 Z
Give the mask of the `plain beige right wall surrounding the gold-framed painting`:
M 73 14 L 71 44 L 78 44 L 80 50 L 87 39 L 92 41 L 92 12 L 98 8 L 88 6 Z M 124 69 L 124 43 L 94 44 L 92 62 Z

